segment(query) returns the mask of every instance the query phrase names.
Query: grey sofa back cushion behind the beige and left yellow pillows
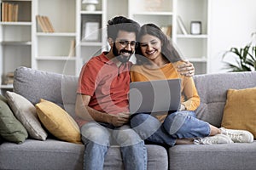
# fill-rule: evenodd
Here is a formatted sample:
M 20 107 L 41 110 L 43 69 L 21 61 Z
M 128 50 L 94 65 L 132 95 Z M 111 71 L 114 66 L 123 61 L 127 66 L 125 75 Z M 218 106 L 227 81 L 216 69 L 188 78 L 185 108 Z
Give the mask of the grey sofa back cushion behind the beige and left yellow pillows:
M 74 104 L 78 77 L 40 71 L 24 66 L 15 70 L 14 92 L 20 94 L 33 105 L 40 99 L 47 99 L 60 105 L 74 117 Z

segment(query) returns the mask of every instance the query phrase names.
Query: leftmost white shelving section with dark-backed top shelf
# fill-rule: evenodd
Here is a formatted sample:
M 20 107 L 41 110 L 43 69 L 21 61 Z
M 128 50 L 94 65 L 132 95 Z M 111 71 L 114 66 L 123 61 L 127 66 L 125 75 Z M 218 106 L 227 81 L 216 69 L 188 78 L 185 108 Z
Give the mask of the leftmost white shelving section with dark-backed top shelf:
M 0 22 L 0 88 L 1 91 L 12 90 L 12 84 L 6 84 L 6 75 L 15 68 L 24 65 L 31 67 L 32 56 L 32 1 L 2 0 Z M 5 4 L 16 4 L 17 13 L 7 14 Z M 10 12 L 11 10 L 9 10 Z M 16 20 L 12 20 L 17 15 Z M 9 17 L 10 16 L 10 17 Z

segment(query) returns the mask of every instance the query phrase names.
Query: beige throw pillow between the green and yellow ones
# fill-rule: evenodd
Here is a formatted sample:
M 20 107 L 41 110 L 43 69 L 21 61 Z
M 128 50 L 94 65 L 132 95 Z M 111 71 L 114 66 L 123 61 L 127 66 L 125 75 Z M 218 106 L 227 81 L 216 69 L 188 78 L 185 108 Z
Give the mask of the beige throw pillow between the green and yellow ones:
M 6 98 L 14 112 L 15 117 L 26 128 L 27 133 L 33 139 L 45 140 L 47 133 L 41 126 L 41 122 L 38 119 L 37 111 L 34 105 L 20 94 L 14 92 L 7 92 Z

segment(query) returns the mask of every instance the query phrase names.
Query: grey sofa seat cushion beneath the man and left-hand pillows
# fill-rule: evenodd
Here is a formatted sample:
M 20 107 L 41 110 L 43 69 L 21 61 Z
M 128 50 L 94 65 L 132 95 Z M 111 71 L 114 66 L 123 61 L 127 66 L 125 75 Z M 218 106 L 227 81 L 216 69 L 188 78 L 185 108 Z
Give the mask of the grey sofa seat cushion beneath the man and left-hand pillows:
M 164 147 L 147 144 L 148 169 L 168 169 Z M 23 144 L 0 145 L 0 169 L 83 169 L 84 144 L 73 144 L 55 139 L 45 141 L 26 139 Z M 11 158 L 11 159 L 10 159 Z M 90 159 L 90 158 L 89 158 Z M 119 147 L 110 147 L 104 170 L 123 169 Z

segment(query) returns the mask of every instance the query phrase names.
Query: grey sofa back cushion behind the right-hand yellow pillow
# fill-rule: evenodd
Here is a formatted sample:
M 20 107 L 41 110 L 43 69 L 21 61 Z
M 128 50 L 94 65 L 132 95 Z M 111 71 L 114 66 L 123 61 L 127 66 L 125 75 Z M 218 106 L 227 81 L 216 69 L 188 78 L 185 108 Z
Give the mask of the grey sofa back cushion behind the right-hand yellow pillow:
M 255 87 L 256 71 L 196 75 L 194 80 L 201 98 L 201 105 L 195 111 L 196 116 L 220 127 L 227 90 Z

